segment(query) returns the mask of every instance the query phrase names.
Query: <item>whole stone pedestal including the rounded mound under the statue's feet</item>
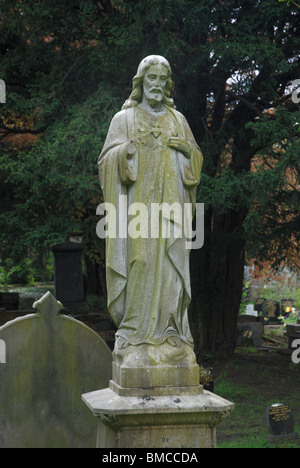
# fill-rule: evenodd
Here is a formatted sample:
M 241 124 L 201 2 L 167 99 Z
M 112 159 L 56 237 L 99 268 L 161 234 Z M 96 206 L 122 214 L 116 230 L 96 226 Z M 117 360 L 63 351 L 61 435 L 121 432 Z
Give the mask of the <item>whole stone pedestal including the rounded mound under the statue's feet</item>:
M 214 448 L 234 405 L 203 390 L 190 346 L 115 346 L 109 388 L 82 395 L 98 448 Z

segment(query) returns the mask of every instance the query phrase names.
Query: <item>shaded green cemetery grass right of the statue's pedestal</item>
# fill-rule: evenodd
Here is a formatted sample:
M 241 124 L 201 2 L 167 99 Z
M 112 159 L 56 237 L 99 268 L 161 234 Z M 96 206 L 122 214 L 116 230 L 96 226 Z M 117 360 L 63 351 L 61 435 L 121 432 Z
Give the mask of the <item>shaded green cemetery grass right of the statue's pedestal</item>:
M 216 394 L 235 403 L 217 427 L 218 448 L 299 448 L 300 439 L 271 443 L 265 411 L 273 403 L 289 405 L 300 436 L 300 364 L 287 349 L 237 348 L 232 359 L 213 366 Z

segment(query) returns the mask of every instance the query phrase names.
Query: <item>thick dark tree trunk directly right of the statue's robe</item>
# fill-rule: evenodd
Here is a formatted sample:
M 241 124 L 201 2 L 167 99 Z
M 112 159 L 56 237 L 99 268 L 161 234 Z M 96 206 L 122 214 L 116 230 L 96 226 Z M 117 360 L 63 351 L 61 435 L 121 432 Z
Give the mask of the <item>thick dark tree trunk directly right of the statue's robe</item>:
M 199 362 L 208 356 L 227 358 L 236 346 L 244 278 L 244 217 L 244 212 L 215 217 L 209 213 L 204 246 L 191 252 L 190 323 Z

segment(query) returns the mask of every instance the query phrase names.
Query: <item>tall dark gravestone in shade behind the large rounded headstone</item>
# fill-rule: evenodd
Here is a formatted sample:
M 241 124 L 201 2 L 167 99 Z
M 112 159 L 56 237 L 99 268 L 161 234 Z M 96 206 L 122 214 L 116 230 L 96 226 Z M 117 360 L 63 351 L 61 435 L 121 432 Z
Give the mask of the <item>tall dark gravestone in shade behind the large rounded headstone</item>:
M 77 313 L 85 304 L 83 250 L 83 244 L 71 241 L 52 247 L 55 297 L 72 313 Z

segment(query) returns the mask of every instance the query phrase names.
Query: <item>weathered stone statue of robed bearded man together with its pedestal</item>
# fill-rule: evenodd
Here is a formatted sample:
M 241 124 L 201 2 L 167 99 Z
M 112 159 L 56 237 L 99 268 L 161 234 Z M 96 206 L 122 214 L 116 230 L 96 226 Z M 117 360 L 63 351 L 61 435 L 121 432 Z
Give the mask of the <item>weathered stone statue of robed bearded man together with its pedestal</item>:
M 199 385 L 188 323 L 191 246 L 187 232 L 176 231 L 191 227 L 182 213 L 197 208 L 203 156 L 171 88 L 164 57 L 142 60 L 98 162 L 105 210 L 117 214 L 115 232 L 104 237 L 108 310 L 118 330 L 110 387 L 82 398 L 99 418 L 101 448 L 215 447 L 215 426 L 234 406 Z M 143 229 L 131 235 L 136 204 Z M 156 218 L 156 235 L 153 205 L 168 208 Z

